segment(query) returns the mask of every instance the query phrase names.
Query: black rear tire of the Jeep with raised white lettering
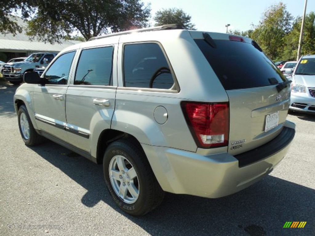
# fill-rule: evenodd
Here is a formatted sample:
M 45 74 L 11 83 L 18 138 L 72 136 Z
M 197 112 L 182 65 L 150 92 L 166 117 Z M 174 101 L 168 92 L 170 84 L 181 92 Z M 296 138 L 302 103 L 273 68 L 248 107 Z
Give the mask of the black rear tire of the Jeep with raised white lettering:
M 126 174 L 127 177 L 122 177 L 121 180 L 118 181 L 113 180 L 113 177 L 110 177 L 109 174 L 109 167 L 111 166 L 112 169 L 112 165 L 115 163 L 114 160 L 116 160 L 117 157 L 124 159 L 125 170 L 127 170 L 123 173 Z M 118 165 L 116 165 L 116 167 L 117 169 L 115 169 L 115 171 L 119 173 L 120 178 L 123 175 L 122 171 L 119 169 Z M 134 167 L 136 173 L 136 178 L 133 179 L 133 187 L 138 190 L 136 199 L 132 196 L 131 192 L 129 192 L 131 181 L 129 185 L 127 172 L 132 169 L 131 167 Z M 126 213 L 133 216 L 143 216 L 161 204 L 164 191 L 157 182 L 140 144 L 128 139 L 117 140 L 111 143 L 104 154 L 103 171 L 106 186 L 114 202 Z M 117 185 L 119 184 L 119 189 L 121 189 L 125 181 L 128 182 L 129 187 L 125 184 L 123 188 L 128 188 L 126 190 L 126 198 L 130 197 L 130 199 L 132 199 L 131 202 L 128 202 L 129 199 L 123 200 L 123 198 L 117 194 Z

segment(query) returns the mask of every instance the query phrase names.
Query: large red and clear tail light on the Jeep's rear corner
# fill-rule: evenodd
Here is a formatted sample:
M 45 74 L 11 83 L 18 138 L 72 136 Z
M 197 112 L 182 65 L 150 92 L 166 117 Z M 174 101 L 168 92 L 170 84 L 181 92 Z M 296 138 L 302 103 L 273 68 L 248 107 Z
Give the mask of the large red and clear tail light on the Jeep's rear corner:
M 228 145 L 228 103 L 182 102 L 181 107 L 198 147 L 216 148 Z

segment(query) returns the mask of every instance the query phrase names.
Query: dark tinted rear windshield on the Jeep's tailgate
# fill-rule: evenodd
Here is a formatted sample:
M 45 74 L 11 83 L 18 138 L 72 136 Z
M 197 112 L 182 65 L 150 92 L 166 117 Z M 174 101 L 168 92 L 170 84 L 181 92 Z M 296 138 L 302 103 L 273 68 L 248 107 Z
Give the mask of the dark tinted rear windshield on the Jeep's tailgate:
M 203 39 L 195 39 L 226 90 L 262 87 L 286 81 L 280 70 L 252 44 L 214 40 L 217 48 Z M 274 83 L 274 82 L 273 82 Z

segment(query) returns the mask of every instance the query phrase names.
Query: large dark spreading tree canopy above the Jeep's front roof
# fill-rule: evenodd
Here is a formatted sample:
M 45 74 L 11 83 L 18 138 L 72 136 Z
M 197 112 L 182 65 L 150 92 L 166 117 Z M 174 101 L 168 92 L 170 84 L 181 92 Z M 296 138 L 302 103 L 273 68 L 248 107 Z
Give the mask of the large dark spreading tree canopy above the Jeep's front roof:
M 88 40 L 109 31 L 146 27 L 151 12 L 140 0 L 46 0 L 37 5 L 28 34 L 49 42 L 73 31 Z

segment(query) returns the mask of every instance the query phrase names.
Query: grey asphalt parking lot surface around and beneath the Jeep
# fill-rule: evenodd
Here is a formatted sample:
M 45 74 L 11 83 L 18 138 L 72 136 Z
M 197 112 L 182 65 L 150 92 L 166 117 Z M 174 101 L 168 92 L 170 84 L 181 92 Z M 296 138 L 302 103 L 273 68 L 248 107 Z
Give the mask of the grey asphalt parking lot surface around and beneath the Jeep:
M 0 85 L 0 235 L 315 235 L 315 115 L 288 116 L 294 142 L 262 181 L 221 199 L 166 194 L 136 218 L 116 207 L 101 166 L 50 141 L 23 144 L 15 89 Z

